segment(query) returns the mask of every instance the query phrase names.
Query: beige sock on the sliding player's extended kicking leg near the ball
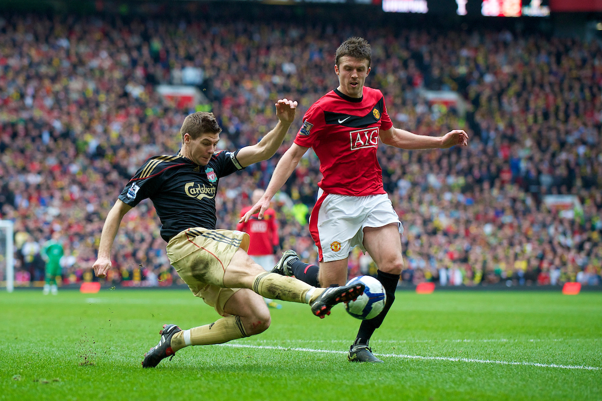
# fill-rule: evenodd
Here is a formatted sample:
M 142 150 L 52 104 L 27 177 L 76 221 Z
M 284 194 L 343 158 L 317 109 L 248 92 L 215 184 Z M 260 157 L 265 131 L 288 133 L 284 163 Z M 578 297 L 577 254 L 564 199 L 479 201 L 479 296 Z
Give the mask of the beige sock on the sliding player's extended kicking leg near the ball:
M 253 291 L 265 298 L 282 301 L 310 304 L 324 289 L 312 287 L 294 277 L 282 276 L 278 273 L 261 273 L 253 281 Z

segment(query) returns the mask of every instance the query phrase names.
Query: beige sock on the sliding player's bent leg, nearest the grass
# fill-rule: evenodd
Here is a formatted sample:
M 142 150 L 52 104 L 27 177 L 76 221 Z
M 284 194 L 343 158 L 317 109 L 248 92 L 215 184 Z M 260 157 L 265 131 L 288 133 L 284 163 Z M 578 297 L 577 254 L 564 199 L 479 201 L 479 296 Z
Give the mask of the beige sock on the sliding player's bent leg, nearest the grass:
M 243 337 L 249 336 L 239 316 L 222 317 L 208 325 L 177 332 L 172 337 L 172 349 L 176 352 L 189 345 L 222 344 Z

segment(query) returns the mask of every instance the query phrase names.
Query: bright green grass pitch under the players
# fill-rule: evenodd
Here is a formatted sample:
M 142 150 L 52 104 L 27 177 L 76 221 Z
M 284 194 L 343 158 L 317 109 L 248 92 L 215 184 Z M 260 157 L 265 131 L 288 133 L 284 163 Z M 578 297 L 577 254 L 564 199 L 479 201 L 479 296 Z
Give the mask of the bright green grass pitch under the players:
M 371 346 L 405 357 L 373 365 L 299 350 L 349 347 L 359 322 L 341 306 L 318 319 L 306 305 L 285 304 L 263 334 L 190 347 L 156 369 L 140 361 L 163 323 L 190 328 L 218 317 L 190 292 L 21 290 L 0 293 L 0 307 L 0 399 L 602 399 L 602 293 L 398 292 Z

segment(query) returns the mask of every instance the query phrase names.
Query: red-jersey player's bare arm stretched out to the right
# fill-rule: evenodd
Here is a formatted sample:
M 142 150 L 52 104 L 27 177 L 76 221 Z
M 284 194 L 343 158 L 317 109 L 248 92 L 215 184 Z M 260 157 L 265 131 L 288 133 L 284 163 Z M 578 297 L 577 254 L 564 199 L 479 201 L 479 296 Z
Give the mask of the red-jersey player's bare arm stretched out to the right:
M 380 131 L 380 140 L 383 144 L 402 149 L 447 149 L 454 145 L 467 146 L 468 134 L 462 129 L 455 129 L 444 136 L 416 135 L 409 131 L 391 127 Z

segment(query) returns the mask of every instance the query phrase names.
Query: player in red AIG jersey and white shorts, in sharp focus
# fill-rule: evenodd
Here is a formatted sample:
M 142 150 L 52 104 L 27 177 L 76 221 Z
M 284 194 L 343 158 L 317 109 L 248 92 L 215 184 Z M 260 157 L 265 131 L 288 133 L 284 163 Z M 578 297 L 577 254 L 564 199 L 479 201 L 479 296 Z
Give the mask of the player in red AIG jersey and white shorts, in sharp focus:
M 287 253 L 276 267 L 281 274 L 294 275 L 306 283 L 340 285 L 347 281 L 350 249 L 359 245 L 370 253 L 379 268 L 376 278 L 385 287 L 386 305 L 379 316 L 361 323 L 348 357 L 349 361 L 358 362 L 382 362 L 372 354 L 368 340 L 393 304 L 403 269 L 403 227 L 383 189 L 382 170 L 376 158 L 379 141 L 402 149 L 468 145 L 464 130 L 435 137 L 395 128 L 382 93 L 364 87 L 370 60 L 370 44 L 364 38 L 349 38 L 338 47 L 334 66 L 338 88 L 306 112 L 303 126 L 278 162 L 264 196 L 241 218 L 247 221 L 257 212 L 262 218 L 273 195 L 308 148 L 314 149 L 324 178 L 318 183 L 318 200 L 309 219 L 309 230 L 318 247 L 320 268 Z

